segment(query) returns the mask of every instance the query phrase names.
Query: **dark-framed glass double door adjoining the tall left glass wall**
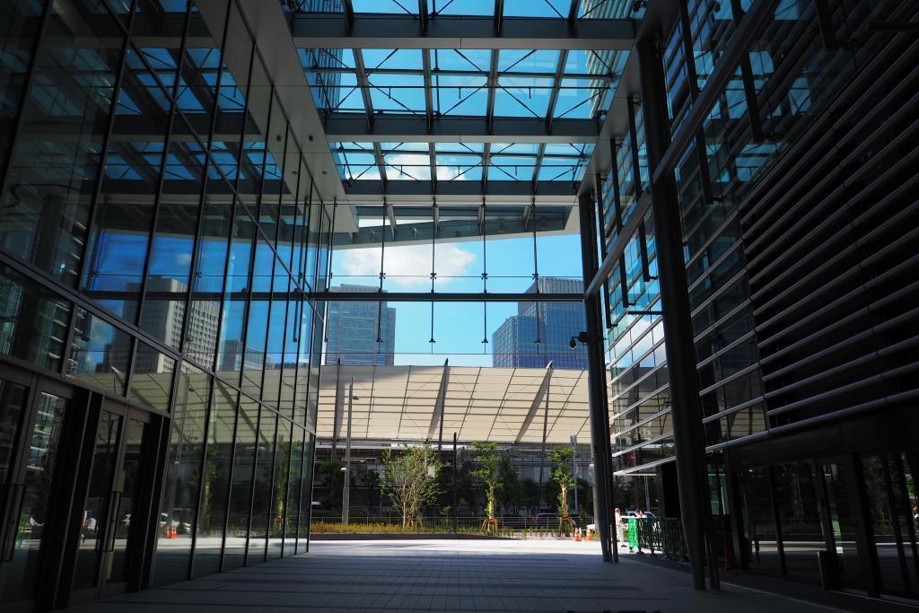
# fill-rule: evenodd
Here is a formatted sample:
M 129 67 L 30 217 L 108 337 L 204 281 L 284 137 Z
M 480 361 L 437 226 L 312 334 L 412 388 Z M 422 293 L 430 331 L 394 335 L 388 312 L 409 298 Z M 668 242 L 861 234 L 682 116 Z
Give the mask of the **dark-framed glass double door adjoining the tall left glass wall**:
M 149 417 L 105 402 L 99 411 L 85 504 L 79 516 L 72 602 L 123 592 L 142 559 L 149 523 L 152 462 L 145 459 Z M 144 508 L 146 503 L 146 508 Z M 76 508 L 76 507 L 74 507 Z

